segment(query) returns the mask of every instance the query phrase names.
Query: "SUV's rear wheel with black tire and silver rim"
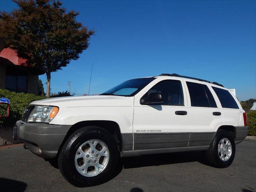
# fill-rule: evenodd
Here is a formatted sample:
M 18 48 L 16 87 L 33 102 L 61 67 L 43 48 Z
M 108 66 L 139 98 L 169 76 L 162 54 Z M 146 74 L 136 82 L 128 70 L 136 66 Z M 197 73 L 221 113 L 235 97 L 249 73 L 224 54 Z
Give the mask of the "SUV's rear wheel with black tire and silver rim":
M 210 164 L 217 168 L 226 168 L 232 164 L 235 153 L 234 134 L 226 130 L 218 130 L 210 148 L 206 151 L 206 158 Z

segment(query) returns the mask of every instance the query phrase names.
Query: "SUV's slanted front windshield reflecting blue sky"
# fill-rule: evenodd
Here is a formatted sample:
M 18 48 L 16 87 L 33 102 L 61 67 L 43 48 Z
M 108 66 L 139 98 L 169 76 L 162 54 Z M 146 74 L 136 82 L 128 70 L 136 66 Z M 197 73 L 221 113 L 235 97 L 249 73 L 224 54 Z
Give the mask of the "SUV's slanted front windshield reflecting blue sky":
M 100 95 L 134 96 L 154 79 L 150 77 L 128 80 Z

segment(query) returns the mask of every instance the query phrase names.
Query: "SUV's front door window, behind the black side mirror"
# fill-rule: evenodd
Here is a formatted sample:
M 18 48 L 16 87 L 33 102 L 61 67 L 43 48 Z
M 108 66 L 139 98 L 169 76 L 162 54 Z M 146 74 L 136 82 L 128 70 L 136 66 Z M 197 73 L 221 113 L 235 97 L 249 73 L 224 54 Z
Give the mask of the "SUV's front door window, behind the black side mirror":
M 182 85 L 178 80 L 161 81 L 153 86 L 142 98 L 148 98 L 148 95 L 153 92 L 162 94 L 164 98 L 164 102 L 154 105 L 184 106 Z

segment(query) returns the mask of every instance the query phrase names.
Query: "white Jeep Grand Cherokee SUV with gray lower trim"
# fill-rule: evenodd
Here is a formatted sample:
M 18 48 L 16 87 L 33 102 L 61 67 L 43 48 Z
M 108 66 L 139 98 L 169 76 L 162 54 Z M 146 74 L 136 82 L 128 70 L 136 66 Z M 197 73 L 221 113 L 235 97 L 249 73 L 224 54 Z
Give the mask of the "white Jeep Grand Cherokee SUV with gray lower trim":
M 119 157 L 206 151 L 228 167 L 247 135 L 246 113 L 216 82 L 162 74 L 137 78 L 94 96 L 32 102 L 14 126 L 24 147 L 58 160 L 76 186 L 105 180 Z

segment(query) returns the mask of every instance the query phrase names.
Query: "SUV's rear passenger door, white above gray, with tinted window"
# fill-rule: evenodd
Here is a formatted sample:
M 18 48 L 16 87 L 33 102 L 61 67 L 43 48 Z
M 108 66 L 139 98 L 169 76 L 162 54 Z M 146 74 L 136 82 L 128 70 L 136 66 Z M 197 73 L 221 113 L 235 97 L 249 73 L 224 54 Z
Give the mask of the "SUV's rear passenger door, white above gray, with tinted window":
M 188 146 L 209 145 L 216 128 L 223 122 L 222 108 L 212 88 L 198 81 L 185 81 L 190 106 L 190 141 Z

